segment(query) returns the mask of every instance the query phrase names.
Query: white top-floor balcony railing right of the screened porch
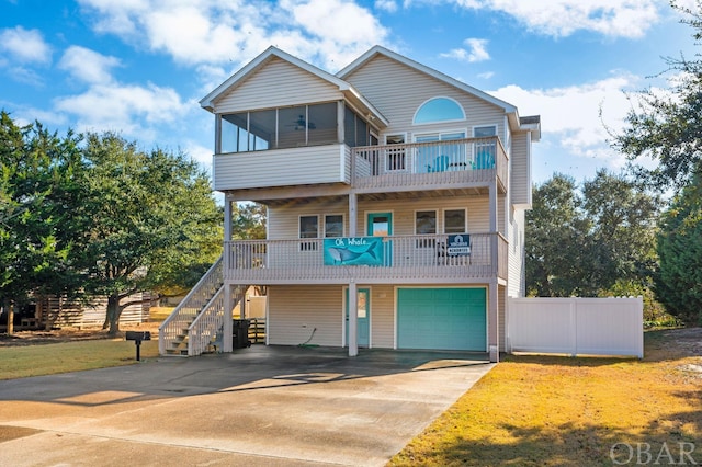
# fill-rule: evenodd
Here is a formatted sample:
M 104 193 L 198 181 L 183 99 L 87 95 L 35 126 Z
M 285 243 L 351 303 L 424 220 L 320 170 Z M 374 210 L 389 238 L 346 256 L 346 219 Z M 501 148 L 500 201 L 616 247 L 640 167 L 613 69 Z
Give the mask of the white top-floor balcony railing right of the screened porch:
M 407 184 L 507 185 L 509 160 L 496 136 L 351 148 L 352 184 L 377 189 Z

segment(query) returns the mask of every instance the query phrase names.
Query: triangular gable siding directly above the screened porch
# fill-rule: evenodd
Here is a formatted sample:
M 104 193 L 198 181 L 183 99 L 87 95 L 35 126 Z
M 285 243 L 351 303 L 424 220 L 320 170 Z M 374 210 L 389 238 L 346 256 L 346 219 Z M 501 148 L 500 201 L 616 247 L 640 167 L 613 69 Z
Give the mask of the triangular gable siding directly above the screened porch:
M 337 87 L 274 58 L 215 102 L 215 113 L 339 101 Z

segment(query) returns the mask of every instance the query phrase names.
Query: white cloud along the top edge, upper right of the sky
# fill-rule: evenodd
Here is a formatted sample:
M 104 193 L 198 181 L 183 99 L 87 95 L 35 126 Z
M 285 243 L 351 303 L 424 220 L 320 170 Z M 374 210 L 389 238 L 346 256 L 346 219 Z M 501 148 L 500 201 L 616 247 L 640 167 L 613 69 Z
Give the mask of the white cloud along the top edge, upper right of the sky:
M 660 0 L 453 0 L 467 9 L 499 11 L 531 31 L 568 36 L 593 31 L 612 37 L 642 37 L 659 19 Z

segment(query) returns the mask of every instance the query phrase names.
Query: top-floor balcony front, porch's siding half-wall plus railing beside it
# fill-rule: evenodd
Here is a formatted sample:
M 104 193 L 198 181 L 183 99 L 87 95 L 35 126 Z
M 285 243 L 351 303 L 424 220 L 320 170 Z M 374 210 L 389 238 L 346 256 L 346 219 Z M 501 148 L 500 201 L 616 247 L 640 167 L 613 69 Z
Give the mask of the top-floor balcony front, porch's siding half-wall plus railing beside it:
M 249 191 L 341 184 L 359 193 L 487 187 L 506 191 L 509 159 L 498 137 L 349 147 L 343 144 L 219 153 L 214 187 Z

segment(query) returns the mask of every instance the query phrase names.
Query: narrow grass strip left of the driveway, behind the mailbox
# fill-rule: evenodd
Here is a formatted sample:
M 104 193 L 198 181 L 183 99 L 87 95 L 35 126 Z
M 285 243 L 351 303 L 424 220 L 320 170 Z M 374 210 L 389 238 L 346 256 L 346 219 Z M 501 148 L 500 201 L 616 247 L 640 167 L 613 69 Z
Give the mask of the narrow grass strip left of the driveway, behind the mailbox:
M 141 360 L 156 356 L 158 356 L 158 340 L 141 342 Z M 0 348 L 0 379 L 80 372 L 134 363 L 137 363 L 135 344 L 124 339 L 2 346 Z

